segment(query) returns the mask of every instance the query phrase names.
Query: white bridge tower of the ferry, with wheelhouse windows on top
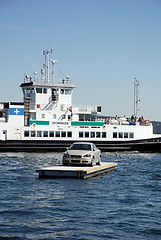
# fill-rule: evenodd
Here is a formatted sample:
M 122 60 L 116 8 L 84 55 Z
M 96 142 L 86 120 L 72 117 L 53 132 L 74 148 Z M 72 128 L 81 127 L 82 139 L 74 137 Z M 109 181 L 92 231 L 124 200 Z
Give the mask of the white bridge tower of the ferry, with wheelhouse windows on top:
M 70 120 L 73 84 L 31 82 L 21 87 L 24 102 L 28 102 L 25 111 L 30 111 L 30 120 Z

